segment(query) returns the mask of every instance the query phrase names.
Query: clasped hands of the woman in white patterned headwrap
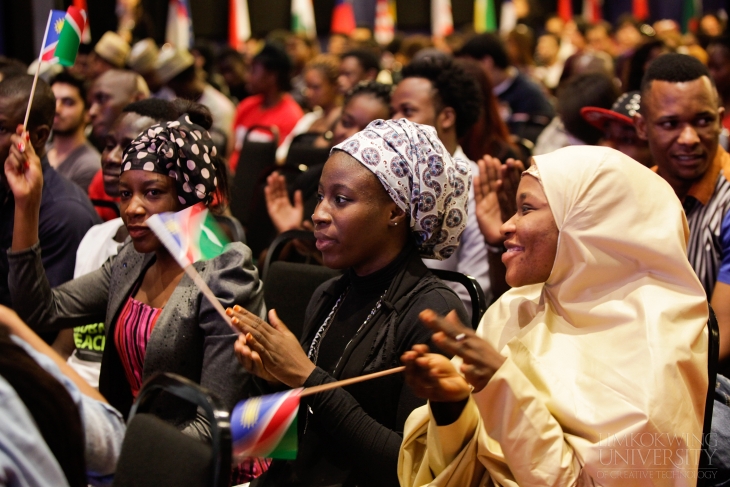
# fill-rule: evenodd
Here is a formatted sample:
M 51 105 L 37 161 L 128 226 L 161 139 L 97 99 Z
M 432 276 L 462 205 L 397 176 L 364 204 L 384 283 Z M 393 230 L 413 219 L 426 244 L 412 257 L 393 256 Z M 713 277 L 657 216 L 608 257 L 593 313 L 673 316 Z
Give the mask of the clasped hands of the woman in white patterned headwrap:
M 275 310 L 269 310 L 269 323 L 238 305 L 226 313 L 242 332 L 234 350 L 246 370 L 272 385 L 304 385 L 315 365 Z

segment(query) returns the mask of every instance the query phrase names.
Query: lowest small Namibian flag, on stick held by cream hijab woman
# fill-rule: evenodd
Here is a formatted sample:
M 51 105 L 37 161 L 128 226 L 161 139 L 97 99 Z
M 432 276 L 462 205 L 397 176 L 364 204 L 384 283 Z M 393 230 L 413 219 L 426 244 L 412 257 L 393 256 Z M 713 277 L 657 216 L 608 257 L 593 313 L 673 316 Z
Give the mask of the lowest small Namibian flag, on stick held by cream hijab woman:
M 292 389 L 239 402 L 231 413 L 233 455 L 294 460 L 302 390 Z

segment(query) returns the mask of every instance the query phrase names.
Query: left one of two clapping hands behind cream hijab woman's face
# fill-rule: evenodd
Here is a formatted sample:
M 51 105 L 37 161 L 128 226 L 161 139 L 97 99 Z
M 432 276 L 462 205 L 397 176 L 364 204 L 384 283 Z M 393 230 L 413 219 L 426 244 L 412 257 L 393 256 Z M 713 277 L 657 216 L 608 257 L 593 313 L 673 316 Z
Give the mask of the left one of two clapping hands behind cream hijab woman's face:
M 499 231 L 503 221 L 498 192 L 502 184 L 499 178 L 502 163 L 494 157 L 484 156 L 477 164 L 479 174 L 474 175 L 474 201 L 479 230 L 489 245 L 501 245 L 504 237 Z

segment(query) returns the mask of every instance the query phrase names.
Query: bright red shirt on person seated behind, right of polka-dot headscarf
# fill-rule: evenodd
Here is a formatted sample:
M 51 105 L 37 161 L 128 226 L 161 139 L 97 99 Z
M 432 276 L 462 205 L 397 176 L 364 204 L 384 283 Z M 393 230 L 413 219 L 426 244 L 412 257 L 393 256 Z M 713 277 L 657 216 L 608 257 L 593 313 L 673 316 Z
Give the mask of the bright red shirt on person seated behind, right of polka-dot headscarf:
M 249 127 L 254 125 L 276 127 L 279 130 L 279 144 L 281 144 L 304 115 L 302 108 L 289 93 L 285 93 L 281 97 L 281 101 L 273 107 L 263 108 L 263 103 L 263 95 L 253 95 L 244 99 L 236 107 L 236 116 L 233 120 L 235 148 L 230 158 L 232 171 L 235 171 L 236 166 L 238 166 L 238 152 L 241 150 L 243 138 L 246 136 Z M 261 136 L 259 138 L 257 133 L 256 138 L 253 140 L 261 140 L 264 137 L 271 140 L 271 136 L 265 132 L 261 132 Z

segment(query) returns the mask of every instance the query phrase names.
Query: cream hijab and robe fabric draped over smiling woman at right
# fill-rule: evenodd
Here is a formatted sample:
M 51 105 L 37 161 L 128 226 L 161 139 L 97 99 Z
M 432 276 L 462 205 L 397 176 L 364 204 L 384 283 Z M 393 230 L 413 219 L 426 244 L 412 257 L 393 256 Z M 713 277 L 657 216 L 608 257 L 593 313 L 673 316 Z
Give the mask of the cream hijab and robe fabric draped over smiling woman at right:
M 694 485 L 697 452 L 688 462 L 683 450 L 700 448 L 708 308 L 686 258 L 682 206 L 664 180 L 613 149 L 534 160 L 560 230 L 555 262 L 544 284 L 510 290 L 483 317 L 477 333 L 507 360 L 473 396 L 472 460 L 452 463 L 476 453 L 483 481 L 498 485 Z M 404 448 L 419 427 L 409 423 Z M 434 485 L 464 470 L 446 469 L 450 480 Z M 637 469 L 678 476 L 611 473 Z

